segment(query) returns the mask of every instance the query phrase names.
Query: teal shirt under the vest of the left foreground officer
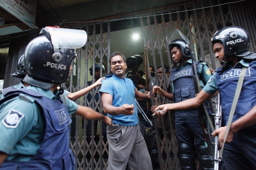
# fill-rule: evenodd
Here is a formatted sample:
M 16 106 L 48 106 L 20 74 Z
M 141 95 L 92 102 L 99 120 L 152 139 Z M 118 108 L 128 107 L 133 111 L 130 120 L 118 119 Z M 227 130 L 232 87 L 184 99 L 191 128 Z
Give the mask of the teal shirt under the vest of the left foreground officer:
M 39 92 L 50 99 L 55 99 L 59 91 L 54 93 L 50 90 L 43 90 L 34 86 L 28 86 L 27 89 L 32 89 Z M 26 96 L 28 100 L 24 100 L 22 95 L 10 99 L 0 105 L 0 151 L 7 153 L 7 160 L 28 161 L 41 146 L 42 137 L 45 132 L 44 118 L 40 114 L 40 110 L 34 102 L 33 98 Z M 78 110 L 78 105 L 70 101 L 66 97 L 66 106 L 69 114 L 73 114 Z M 14 119 L 10 115 L 14 115 Z M 15 123 L 14 126 L 7 126 Z

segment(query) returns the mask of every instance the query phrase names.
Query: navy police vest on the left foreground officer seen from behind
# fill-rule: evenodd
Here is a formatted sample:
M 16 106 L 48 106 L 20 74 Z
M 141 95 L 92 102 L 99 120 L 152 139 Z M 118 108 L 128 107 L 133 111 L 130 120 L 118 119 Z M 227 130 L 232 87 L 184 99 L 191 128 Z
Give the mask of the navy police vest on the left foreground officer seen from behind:
M 24 93 L 35 99 L 41 110 L 41 114 L 45 118 L 45 135 L 42 139 L 42 145 L 30 161 L 19 162 L 6 160 L 0 169 L 75 169 L 75 157 L 69 149 L 69 124 L 72 120 L 63 101 L 60 99 L 49 99 L 30 89 L 19 89 L 7 93 L 0 104 L 18 96 L 20 93 Z

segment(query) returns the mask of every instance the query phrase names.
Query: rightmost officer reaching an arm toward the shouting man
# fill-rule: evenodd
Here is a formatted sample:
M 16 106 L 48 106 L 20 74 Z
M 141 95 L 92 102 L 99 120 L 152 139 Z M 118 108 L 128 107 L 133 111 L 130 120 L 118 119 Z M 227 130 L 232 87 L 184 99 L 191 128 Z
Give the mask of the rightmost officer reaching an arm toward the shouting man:
M 249 34 L 241 27 L 225 27 L 213 35 L 211 42 L 215 58 L 219 59 L 223 66 L 217 69 L 195 98 L 186 102 L 161 105 L 156 109 L 176 110 L 198 107 L 219 90 L 224 127 L 214 131 L 212 135 L 219 134 L 220 146 L 222 146 L 239 75 L 242 68 L 247 67 L 233 123 L 226 140 L 229 143 L 224 146 L 222 160 L 227 170 L 256 169 L 256 54 L 249 51 Z

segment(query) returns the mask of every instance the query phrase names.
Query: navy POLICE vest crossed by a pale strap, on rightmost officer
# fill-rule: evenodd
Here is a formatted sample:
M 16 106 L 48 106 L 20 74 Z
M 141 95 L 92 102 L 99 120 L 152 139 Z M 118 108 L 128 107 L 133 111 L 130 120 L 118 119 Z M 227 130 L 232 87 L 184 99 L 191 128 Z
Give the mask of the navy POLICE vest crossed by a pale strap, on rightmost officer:
M 237 82 L 242 68 L 228 68 L 221 73 L 222 67 L 216 71 L 217 85 L 221 95 L 221 105 L 223 114 L 223 125 L 227 125 L 229 113 L 236 92 Z M 246 69 L 243 86 L 239 95 L 237 106 L 232 122 L 241 118 L 253 106 L 256 105 L 256 61 L 252 61 Z M 246 130 L 256 130 L 256 125 L 246 128 Z

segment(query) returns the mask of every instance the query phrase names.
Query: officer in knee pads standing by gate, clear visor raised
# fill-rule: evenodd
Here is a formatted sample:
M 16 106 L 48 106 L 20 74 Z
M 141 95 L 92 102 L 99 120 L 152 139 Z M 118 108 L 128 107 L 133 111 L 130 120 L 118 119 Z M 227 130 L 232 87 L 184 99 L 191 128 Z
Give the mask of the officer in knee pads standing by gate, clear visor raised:
M 169 96 L 170 99 L 173 97 L 174 102 L 178 103 L 195 96 L 191 50 L 188 48 L 186 41 L 181 39 L 172 41 L 169 45 L 169 49 L 176 67 L 171 70 L 173 96 L 167 96 Z M 200 77 L 201 87 L 203 88 L 211 78 L 210 70 L 205 62 L 200 61 L 196 62 L 196 68 L 198 77 Z M 161 88 L 159 87 L 153 88 L 153 92 L 155 93 L 158 93 L 160 90 Z M 198 119 L 198 109 L 175 110 L 175 130 L 181 169 L 196 169 L 194 146 L 196 146 L 197 149 L 197 159 L 201 169 L 213 169 L 213 157 L 206 154 L 203 130 Z

